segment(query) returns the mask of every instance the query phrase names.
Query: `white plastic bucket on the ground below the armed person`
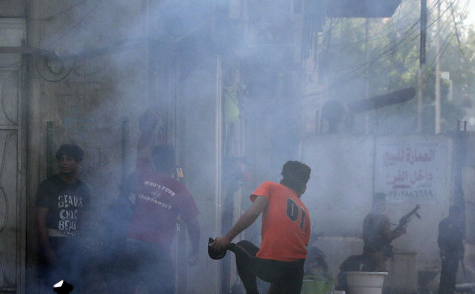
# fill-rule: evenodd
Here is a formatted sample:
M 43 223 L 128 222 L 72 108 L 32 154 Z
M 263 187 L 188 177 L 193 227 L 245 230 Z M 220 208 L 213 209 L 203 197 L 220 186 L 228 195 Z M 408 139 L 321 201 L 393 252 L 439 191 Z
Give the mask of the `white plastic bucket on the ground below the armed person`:
M 386 272 L 345 272 L 349 294 L 381 294 Z

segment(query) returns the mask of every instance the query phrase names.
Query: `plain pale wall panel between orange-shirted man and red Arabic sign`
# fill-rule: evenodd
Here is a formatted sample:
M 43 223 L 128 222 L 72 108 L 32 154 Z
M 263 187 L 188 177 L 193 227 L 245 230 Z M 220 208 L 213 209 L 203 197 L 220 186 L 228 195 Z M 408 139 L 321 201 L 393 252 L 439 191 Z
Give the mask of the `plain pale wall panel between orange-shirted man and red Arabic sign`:
M 302 161 L 312 169 L 302 196 L 310 209 L 312 230 L 325 236 L 360 237 L 372 203 L 374 138 L 306 138 Z

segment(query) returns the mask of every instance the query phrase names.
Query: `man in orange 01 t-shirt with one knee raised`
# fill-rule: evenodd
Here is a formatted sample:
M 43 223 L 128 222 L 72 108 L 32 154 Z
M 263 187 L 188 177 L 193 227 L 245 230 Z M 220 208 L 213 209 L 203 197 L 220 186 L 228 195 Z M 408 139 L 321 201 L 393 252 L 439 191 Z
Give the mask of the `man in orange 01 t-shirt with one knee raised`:
M 310 178 L 310 167 L 287 161 L 280 184 L 264 182 L 251 194 L 252 206 L 224 236 L 216 238 L 210 249 L 229 249 L 236 254 L 239 278 L 248 294 L 258 293 L 256 277 L 271 283 L 269 293 L 299 294 L 303 265 L 310 239 L 310 217 L 300 197 Z M 249 241 L 231 241 L 249 227 L 262 212 L 260 248 Z

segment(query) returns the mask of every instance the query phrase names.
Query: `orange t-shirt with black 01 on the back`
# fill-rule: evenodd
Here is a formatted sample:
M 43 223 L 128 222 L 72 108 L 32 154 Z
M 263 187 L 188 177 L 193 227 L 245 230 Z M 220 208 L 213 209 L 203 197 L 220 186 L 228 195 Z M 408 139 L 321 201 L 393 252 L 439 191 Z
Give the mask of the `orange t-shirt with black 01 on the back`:
M 307 256 L 310 217 L 295 191 L 274 182 L 264 182 L 251 194 L 269 201 L 262 213 L 262 242 L 256 256 L 263 259 L 295 261 Z

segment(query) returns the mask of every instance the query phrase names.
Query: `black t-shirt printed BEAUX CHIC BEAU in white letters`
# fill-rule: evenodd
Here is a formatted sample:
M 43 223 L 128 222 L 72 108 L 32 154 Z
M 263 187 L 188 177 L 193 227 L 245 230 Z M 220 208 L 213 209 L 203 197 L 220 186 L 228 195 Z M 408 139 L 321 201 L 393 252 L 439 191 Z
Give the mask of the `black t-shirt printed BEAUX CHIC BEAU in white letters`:
M 83 214 L 90 208 L 90 191 L 81 180 L 72 184 L 55 174 L 41 182 L 36 192 L 36 206 L 49 209 L 47 227 L 64 235 L 79 235 Z

